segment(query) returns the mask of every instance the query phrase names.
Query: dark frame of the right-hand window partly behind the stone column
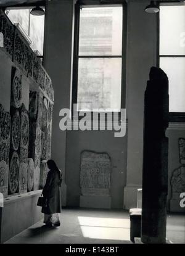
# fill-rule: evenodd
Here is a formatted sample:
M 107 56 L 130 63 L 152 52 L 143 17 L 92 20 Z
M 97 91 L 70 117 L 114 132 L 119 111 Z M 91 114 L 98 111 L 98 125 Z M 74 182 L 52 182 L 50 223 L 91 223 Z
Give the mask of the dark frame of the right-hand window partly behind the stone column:
M 180 2 L 175 2 L 175 1 L 167 1 L 167 2 L 163 2 L 163 1 L 159 1 L 158 2 L 158 6 L 160 7 L 162 4 L 162 6 L 178 6 L 180 4 Z M 160 58 L 161 57 L 184 57 L 185 55 L 163 55 L 160 54 L 160 12 L 158 12 L 157 14 L 157 67 L 160 68 Z M 169 98 L 170 101 L 170 98 Z M 185 112 L 169 112 L 168 114 L 168 120 L 169 122 L 185 122 Z

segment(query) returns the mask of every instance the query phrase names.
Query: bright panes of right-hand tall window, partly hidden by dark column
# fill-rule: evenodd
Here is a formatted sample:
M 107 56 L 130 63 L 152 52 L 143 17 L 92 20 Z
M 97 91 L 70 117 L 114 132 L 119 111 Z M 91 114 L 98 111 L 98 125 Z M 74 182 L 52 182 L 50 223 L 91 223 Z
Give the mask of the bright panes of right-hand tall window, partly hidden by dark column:
M 169 79 L 170 112 L 185 112 L 185 6 L 160 6 L 160 67 Z

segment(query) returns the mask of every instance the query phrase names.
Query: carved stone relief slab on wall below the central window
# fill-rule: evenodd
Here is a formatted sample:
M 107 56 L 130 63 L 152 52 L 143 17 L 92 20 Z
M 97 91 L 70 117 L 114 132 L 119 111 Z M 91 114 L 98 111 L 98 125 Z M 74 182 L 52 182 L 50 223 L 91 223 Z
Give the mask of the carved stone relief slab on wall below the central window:
M 109 196 L 110 157 L 106 153 L 84 151 L 81 154 L 80 187 L 83 196 Z

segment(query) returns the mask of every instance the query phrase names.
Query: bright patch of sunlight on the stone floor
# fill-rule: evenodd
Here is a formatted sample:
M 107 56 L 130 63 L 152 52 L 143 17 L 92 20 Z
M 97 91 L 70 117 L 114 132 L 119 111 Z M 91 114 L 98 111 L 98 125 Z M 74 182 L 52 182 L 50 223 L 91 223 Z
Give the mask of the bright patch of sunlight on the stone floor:
M 78 217 L 84 237 L 130 241 L 130 219 Z

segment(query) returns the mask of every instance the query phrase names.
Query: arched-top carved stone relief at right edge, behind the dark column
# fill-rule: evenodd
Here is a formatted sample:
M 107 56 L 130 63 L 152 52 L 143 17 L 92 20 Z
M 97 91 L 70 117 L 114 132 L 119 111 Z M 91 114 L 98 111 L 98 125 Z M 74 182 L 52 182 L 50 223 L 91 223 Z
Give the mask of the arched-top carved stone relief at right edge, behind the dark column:
M 171 176 L 172 192 L 185 191 L 185 166 L 175 169 Z

